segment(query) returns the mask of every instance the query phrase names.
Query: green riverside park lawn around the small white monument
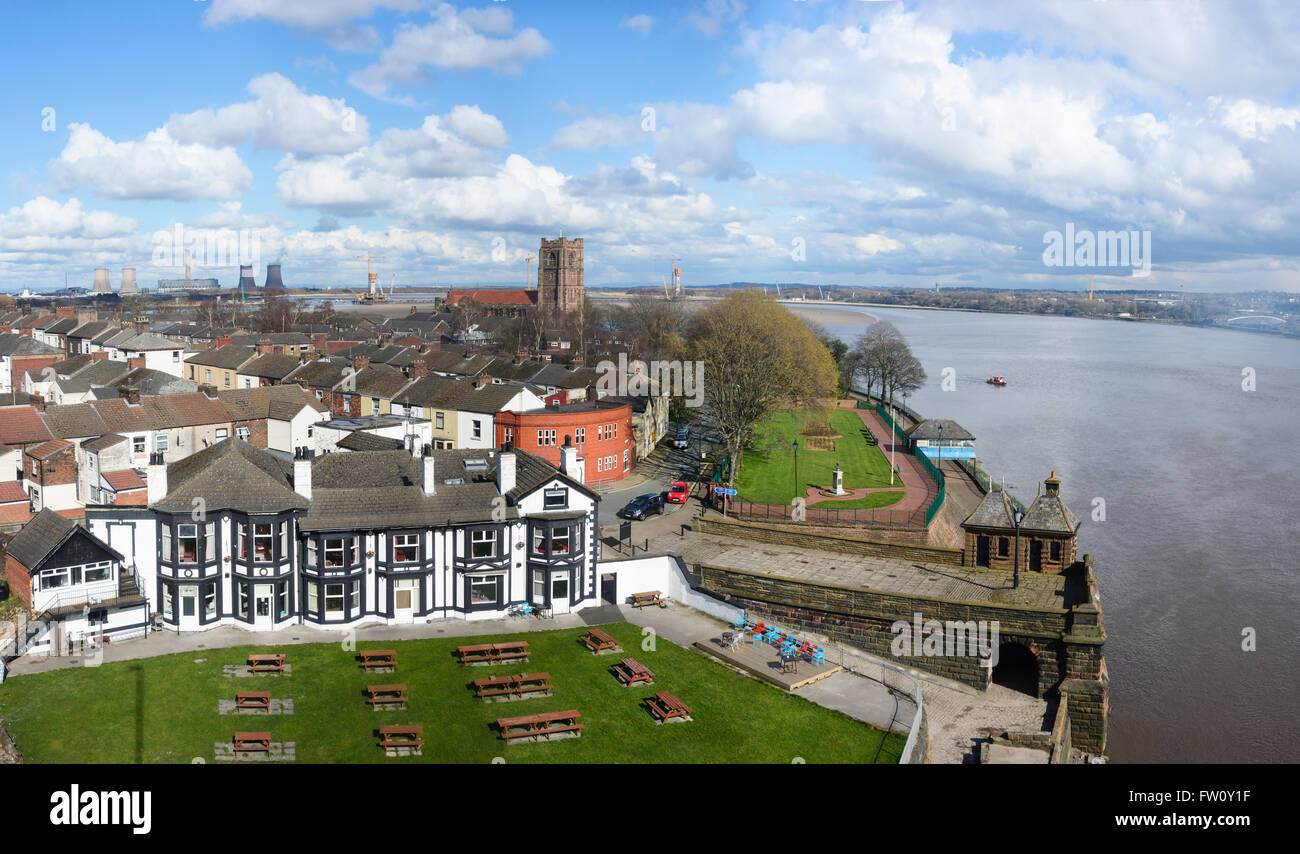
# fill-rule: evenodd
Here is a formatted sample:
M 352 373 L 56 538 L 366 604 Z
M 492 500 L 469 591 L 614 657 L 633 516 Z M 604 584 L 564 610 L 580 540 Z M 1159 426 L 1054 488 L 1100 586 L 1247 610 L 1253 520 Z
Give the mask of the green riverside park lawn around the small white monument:
M 801 433 L 806 424 L 814 421 L 829 421 L 831 429 L 840 434 L 835 439 L 833 451 L 810 451 L 805 447 L 809 437 Z M 836 463 L 844 469 L 845 489 L 889 486 L 889 460 L 878 446 L 867 445 L 866 435 L 866 426 L 853 409 L 772 412 L 755 428 L 753 447 L 745 451 L 741 472 L 736 478 L 740 497 L 751 502 L 789 504 L 790 499 L 805 494 L 810 486 L 829 489 Z M 794 490 L 794 450 L 790 447 L 796 437 L 800 441 L 798 491 Z M 902 498 L 902 493 L 890 494 L 890 498 L 878 495 L 858 500 L 883 500 L 887 503 L 862 506 L 887 507 Z M 852 504 L 842 507 L 848 510 Z

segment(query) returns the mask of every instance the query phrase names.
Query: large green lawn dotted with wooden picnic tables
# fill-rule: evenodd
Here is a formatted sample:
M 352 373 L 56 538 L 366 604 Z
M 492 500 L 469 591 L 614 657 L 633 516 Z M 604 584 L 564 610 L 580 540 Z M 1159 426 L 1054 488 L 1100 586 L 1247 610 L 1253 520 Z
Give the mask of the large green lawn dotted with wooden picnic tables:
M 0 685 L 0 725 L 27 762 L 188 763 L 213 762 L 213 742 L 235 731 L 265 731 L 274 741 L 296 742 L 307 763 L 488 763 L 506 762 L 656 763 L 805 762 L 896 763 L 904 737 L 885 734 L 840 712 L 786 694 L 662 638 L 641 649 L 641 629 L 602 627 L 629 655 L 655 672 L 653 686 L 623 688 L 608 669 L 620 655 L 592 655 L 584 629 L 380 641 L 361 649 L 395 649 L 396 673 L 364 673 L 355 651 L 338 643 L 276 647 L 292 676 L 228 679 L 224 664 L 243 664 L 268 647 L 195 650 L 98 668 L 69 668 L 14 676 Z M 526 637 L 530 660 L 465 667 L 455 647 Z M 195 659 L 205 659 L 195 663 Z M 552 697 L 486 703 L 469 688 L 481 676 L 546 671 Z M 406 711 L 373 712 L 368 684 L 406 682 Z M 218 715 L 217 699 L 238 690 L 269 690 L 292 698 L 292 715 Z M 692 707 L 694 720 L 655 725 L 642 699 L 667 690 Z M 576 708 L 581 738 L 507 745 L 491 724 L 498 718 Z M 374 731 L 381 724 L 424 725 L 424 755 L 385 758 Z

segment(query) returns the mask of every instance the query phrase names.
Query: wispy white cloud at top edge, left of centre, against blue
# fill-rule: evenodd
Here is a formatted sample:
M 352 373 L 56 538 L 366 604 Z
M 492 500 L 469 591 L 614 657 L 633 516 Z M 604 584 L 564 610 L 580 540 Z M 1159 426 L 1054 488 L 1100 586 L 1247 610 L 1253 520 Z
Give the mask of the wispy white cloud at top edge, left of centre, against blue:
M 443 3 L 432 14 L 433 23 L 403 23 L 393 43 L 380 53 L 380 61 L 351 74 L 348 82 L 372 97 L 391 100 L 393 86 L 429 82 L 426 68 L 519 74 L 524 62 L 551 49 L 550 42 L 533 27 L 507 36 L 514 29 L 507 9 L 458 12 Z

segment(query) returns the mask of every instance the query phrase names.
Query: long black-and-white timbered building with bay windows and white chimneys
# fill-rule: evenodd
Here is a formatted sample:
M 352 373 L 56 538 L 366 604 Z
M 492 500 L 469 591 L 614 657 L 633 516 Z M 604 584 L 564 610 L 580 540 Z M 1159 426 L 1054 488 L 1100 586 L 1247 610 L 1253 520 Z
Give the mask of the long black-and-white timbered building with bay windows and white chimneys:
M 290 461 L 231 438 L 155 459 L 147 507 L 86 516 L 178 630 L 564 614 L 599 603 L 599 497 L 566 452 L 563 471 L 510 446 Z

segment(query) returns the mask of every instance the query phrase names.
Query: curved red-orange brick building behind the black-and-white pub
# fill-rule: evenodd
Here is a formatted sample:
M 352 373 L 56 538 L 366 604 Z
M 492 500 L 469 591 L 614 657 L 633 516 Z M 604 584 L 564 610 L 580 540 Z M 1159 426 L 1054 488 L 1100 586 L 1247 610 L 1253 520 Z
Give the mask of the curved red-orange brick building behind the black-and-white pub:
M 584 481 L 602 485 L 620 481 L 637 464 L 632 438 L 632 404 L 584 400 L 549 406 L 530 412 L 498 412 L 495 445 L 512 443 L 554 465 L 568 438 L 584 461 Z

